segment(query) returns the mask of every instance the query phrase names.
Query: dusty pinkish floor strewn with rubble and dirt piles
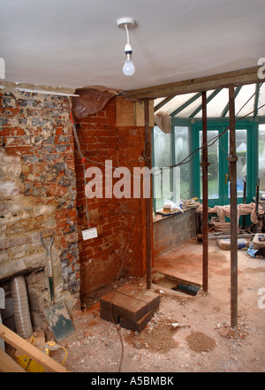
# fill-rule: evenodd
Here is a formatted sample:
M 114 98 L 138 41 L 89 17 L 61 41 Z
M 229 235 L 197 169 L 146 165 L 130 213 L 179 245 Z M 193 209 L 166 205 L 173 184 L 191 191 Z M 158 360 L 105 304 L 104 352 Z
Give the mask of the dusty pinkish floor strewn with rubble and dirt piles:
M 201 253 L 202 245 L 189 241 L 156 259 L 154 276 L 159 271 L 200 284 Z M 118 333 L 116 325 L 99 317 L 95 299 L 74 313 L 76 332 L 60 342 L 68 353 L 64 366 L 74 372 L 264 372 L 265 259 L 243 249 L 238 254 L 238 332 L 229 333 L 230 251 L 209 241 L 208 294 L 153 285 L 161 294 L 160 309 L 140 334 L 122 328 Z M 145 278 L 126 282 L 146 287 Z M 51 356 L 60 362 L 64 350 Z

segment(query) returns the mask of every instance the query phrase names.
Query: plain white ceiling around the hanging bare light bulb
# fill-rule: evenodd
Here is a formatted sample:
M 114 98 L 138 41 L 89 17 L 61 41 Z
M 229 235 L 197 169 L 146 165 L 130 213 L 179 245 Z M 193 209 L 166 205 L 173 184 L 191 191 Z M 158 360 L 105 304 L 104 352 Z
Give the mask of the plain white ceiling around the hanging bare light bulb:
M 264 0 L 0 0 L 5 79 L 134 89 L 256 66 Z M 132 17 L 132 77 L 122 73 Z

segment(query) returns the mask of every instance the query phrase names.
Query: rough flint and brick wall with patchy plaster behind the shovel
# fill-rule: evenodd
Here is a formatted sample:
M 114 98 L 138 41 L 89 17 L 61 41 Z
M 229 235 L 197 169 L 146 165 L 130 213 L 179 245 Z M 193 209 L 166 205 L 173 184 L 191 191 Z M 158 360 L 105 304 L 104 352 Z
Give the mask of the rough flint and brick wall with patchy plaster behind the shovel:
M 54 233 L 56 294 L 71 308 L 79 302 L 71 100 L 12 91 L 0 103 L 0 283 L 43 267 L 40 234 Z

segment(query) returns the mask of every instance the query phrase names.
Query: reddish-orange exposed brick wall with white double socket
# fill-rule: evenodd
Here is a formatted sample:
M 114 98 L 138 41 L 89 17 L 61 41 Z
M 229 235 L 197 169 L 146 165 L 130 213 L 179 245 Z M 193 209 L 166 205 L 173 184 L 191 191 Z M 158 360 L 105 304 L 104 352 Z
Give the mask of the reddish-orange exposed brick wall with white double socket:
M 133 167 L 143 166 L 144 133 L 142 126 L 116 125 L 117 98 L 113 97 L 104 109 L 84 119 L 75 119 L 79 143 L 84 157 L 105 164 L 112 160 L 113 168 L 125 166 L 133 173 Z M 125 256 L 120 276 L 143 275 L 145 271 L 145 201 L 140 199 L 87 199 L 90 224 L 96 227 L 98 237 L 83 241 L 81 230 L 87 228 L 83 165 L 75 151 L 77 174 L 77 208 L 79 226 L 79 259 L 81 295 L 84 298 L 96 289 L 115 281 Z M 98 166 L 86 161 L 86 169 Z M 113 184 L 118 179 L 113 179 Z M 88 180 L 87 180 L 88 182 Z M 133 194 L 133 178 L 132 178 Z M 135 216 L 135 225 L 133 222 Z M 133 230 L 132 230 L 133 229 Z

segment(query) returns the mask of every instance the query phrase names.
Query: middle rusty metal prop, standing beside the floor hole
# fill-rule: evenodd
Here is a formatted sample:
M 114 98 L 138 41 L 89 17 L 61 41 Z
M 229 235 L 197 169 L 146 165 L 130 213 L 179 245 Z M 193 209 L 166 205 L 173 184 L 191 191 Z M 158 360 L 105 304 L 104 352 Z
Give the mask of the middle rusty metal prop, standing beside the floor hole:
M 202 92 L 202 289 L 208 292 L 208 145 L 207 145 L 207 99 Z

